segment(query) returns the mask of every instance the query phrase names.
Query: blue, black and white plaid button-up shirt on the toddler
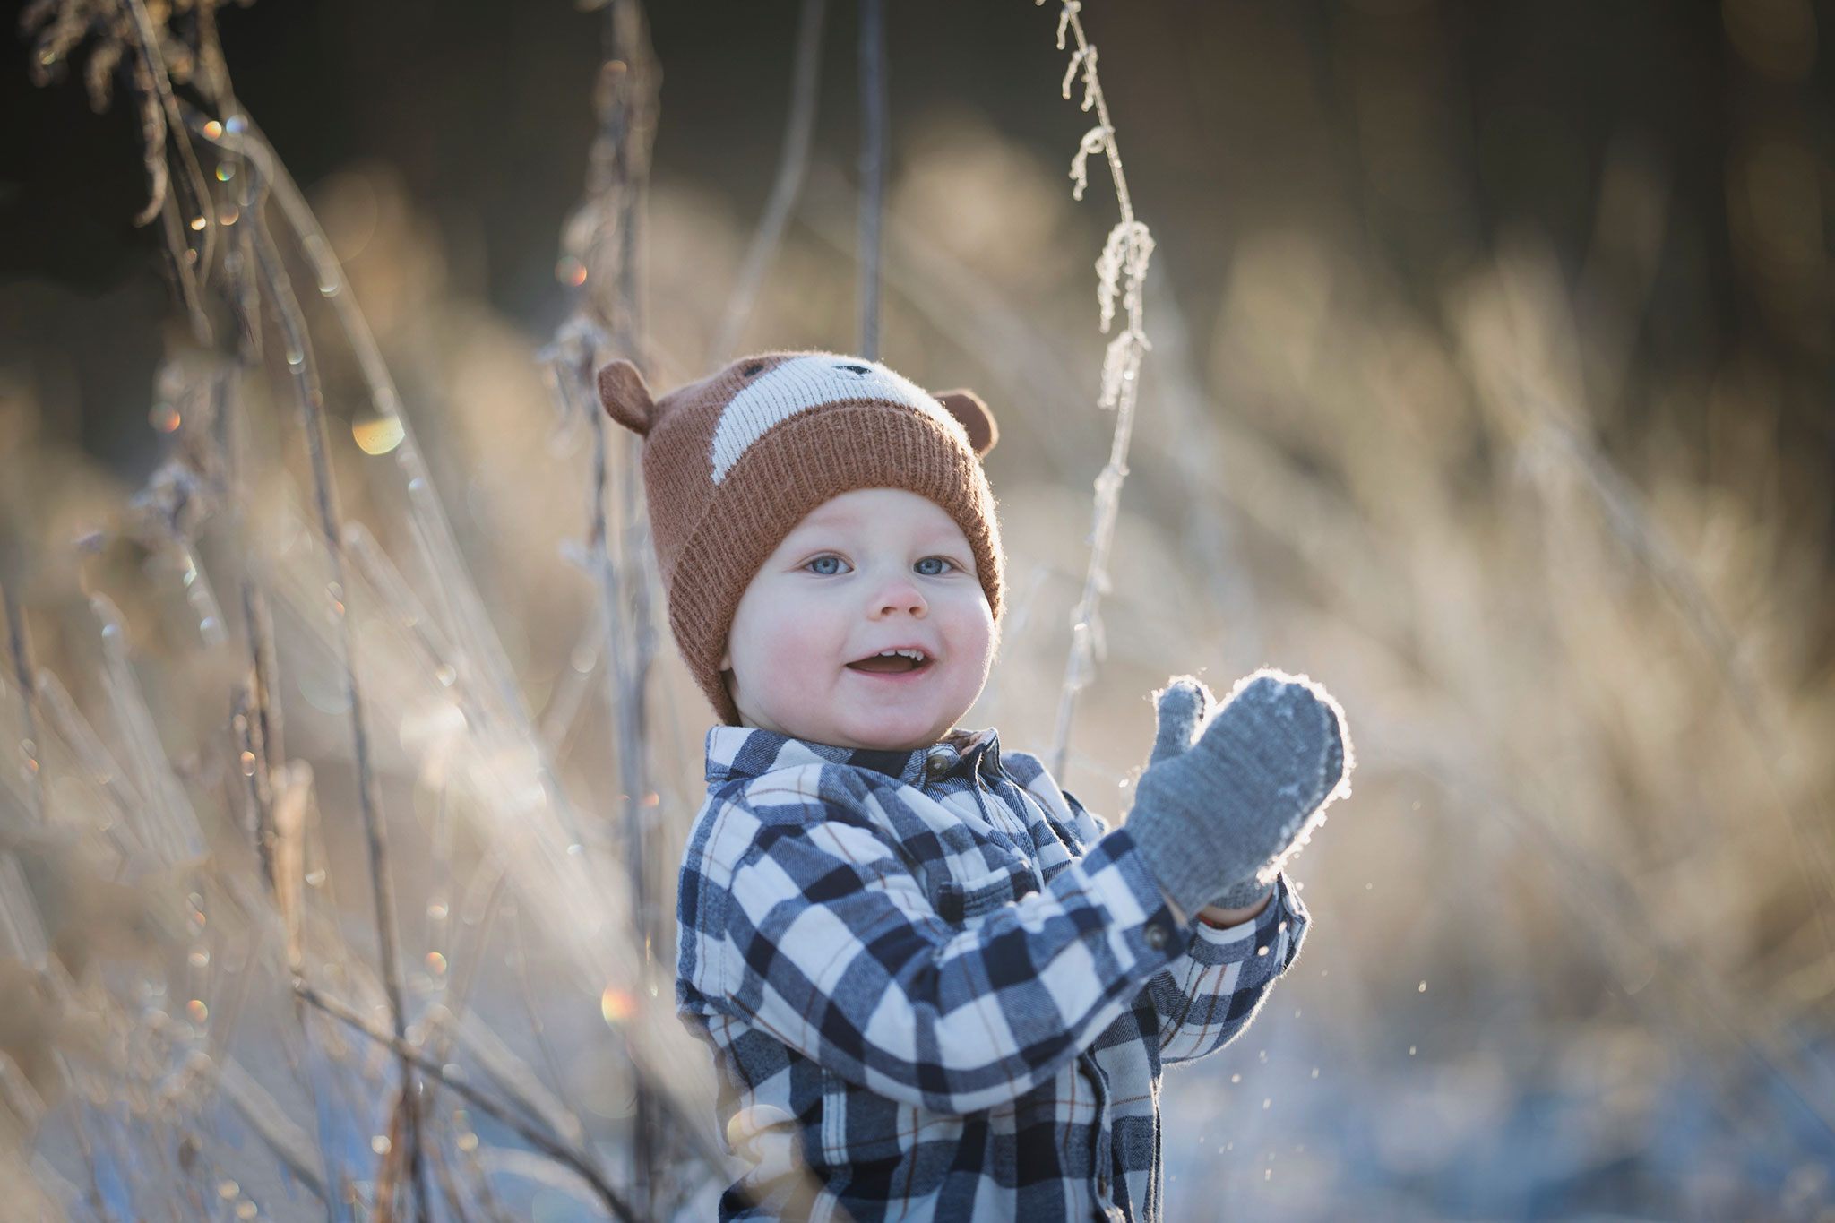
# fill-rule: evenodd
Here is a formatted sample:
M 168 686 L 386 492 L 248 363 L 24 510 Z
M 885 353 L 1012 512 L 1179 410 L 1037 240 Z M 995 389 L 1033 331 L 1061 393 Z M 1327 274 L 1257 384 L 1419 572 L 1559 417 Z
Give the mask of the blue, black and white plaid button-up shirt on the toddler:
M 716 726 L 683 858 L 677 1010 L 751 1172 L 721 1219 L 1158 1219 L 1160 1073 L 1299 952 L 1184 928 L 1127 829 L 993 732 L 850 752 Z M 1105 834 L 1107 832 L 1107 834 Z

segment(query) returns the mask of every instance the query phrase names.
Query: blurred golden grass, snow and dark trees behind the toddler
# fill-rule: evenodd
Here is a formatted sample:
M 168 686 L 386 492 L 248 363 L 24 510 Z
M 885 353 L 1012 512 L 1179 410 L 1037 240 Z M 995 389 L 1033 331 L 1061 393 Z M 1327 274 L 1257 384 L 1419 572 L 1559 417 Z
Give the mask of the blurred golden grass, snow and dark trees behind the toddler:
M 637 330 L 666 389 L 721 356 L 798 6 L 648 18 Z M 1118 820 L 1151 689 L 1264 662 L 1332 688 L 1360 765 L 1292 869 L 1316 917 L 1294 972 L 1235 1045 L 1165 1082 L 1167 1219 L 1835 1219 L 1835 6 L 1132 0 L 1083 18 L 1158 249 L 1105 658 L 1064 781 Z M 886 20 L 881 358 L 974 387 L 1000 420 L 1009 611 L 965 721 L 1046 752 L 1114 427 L 1092 262 L 1116 200 L 1099 171 L 1072 200 L 1092 119 L 1059 94 L 1057 6 Z M 706 1217 L 705 1054 L 668 1043 L 668 990 L 710 715 L 661 594 L 629 601 L 640 552 L 615 590 L 595 570 L 591 407 L 569 411 L 538 358 L 560 332 L 565 365 L 589 279 L 565 235 L 606 17 L 262 0 L 217 24 L 347 277 L 325 290 L 323 251 L 283 242 L 303 286 L 319 270 L 301 310 L 328 469 L 363 528 L 345 539 L 356 644 L 343 589 L 336 618 L 321 607 L 292 348 L 270 336 L 272 370 L 242 389 L 246 460 L 220 486 L 240 491 L 178 480 L 209 468 L 195 413 L 229 420 L 224 358 L 174 304 L 160 226 L 134 226 L 139 112 L 94 114 L 83 55 L 35 86 L 35 42 L 13 40 L 0 1144 L 44 1217 L 130 1217 L 136 1194 L 182 1184 L 222 1217 L 325 1217 L 321 1197 L 382 1210 L 378 1186 L 407 1175 L 389 1172 L 395 1062 L 286 990 L 288 963 L 323 968 L 389 1027 L 350 656 L 409 1038 L 620 1184 L 620 1161 L 677 1168 L 650 1173 L 657 1217 Z M 807 178 L 741 350 L 855 345 L 855 39 L 853 6 L 829 4 Z M 406 425 L 378 409 L 343 303 Z M 609 446 L 598 504 L 628 541 Z M 284 754 L 237 741 L 248 574 L 273 603 Z M 602 658 L 620 633 L 640 647 L 618 616 L 661 634 L 648 677 Z M 305 900 L 284 880 L 262 898 L 239 798 L 257 755 L 261 801 L 305 812 Z M 167 838 L 160 869 L 117 829 L 149 803 L 163 832 L 128 840 Z M 626 886 L 633 818 L 648 873 Z M 648 1157 L 629 1155 L 642 1100 L 675 1089 L 633 1060 L 683 1080 Z M 422 1118 L 459 1183 L 439 1212 L 600 1217 L 578 1177 L 451 1102 Z

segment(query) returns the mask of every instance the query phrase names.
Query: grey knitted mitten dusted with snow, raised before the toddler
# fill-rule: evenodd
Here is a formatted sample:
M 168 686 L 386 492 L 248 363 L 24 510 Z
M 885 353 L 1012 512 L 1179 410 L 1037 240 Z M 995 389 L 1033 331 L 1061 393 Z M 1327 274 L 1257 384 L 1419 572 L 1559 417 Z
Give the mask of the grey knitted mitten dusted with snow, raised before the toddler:
M 1129 836 L 1185 917 L 1246 908 L 1351 792 L 1351 768 L 1345 711 L 1312 680 L 1255 671 L 1218 708 L 1180 675 L 1160 693 Z

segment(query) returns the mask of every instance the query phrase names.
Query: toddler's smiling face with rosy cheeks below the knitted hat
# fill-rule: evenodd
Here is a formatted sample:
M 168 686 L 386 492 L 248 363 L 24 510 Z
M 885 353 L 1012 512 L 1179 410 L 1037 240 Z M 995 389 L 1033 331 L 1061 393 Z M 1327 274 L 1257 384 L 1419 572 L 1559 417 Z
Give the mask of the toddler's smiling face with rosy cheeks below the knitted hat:
M 740 598 L 719 666 L 747 726 L 910 750 L 967 713 L 993 656 L 995 616 L 956 521 L 916 493 L 862 488 L 784 537 Z

